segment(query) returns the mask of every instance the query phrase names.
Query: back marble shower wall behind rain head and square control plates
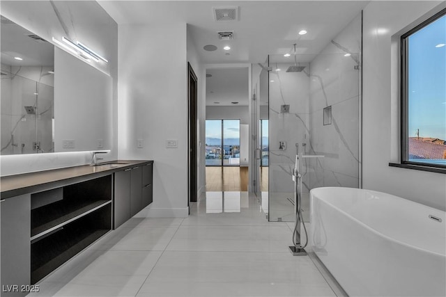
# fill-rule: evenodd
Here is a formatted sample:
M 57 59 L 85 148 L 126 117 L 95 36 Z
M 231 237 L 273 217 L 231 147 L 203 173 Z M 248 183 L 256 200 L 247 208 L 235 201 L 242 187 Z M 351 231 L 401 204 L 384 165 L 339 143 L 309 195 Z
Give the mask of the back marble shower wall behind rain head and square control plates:
M 305 72 L 286 72 L 293 63 L 275 63 L 279 58 L 270 56 L 274 67 L 269 72 L 269 219 L 292 221 L 295 144 L 302 150 L 302 143 L 309 140 L 309 77 Z M 288 113 L 281 112 L 282 105 L 289 105 Z M 279 142 L 286 144 L 284 150 Z M 308 185 L 309 180 L 304 180 L 306 193 Z

